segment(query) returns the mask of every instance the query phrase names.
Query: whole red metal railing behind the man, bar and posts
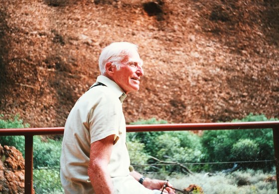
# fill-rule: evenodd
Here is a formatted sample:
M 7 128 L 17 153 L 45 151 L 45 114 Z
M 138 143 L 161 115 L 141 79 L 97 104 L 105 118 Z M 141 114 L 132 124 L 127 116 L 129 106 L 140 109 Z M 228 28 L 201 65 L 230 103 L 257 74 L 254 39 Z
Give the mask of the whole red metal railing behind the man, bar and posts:
M 153 124 L 127 125 L 127 132 L 146 131 L 190 131 L 190 130 L 222 130 L 222 129 L 273 129 L 277 189 L 279 194 L 279 121 L 266 122 L 233 122 L 233 123 L 190 123 L 190 124 Z M 33 190 L 33 136 L 63 134 L 64 127 L 0 129 L 0 136 L 25 136 L 25 194 Z

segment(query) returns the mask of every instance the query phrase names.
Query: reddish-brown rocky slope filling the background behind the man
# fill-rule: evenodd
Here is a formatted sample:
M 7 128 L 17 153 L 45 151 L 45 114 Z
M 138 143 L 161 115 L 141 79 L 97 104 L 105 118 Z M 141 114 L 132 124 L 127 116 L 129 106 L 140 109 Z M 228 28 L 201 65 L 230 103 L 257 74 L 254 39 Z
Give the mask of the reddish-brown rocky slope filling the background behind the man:
M 278 0 L 0 0 L 0 114 L 64 126 L 115 41 L 144 62 L 127 123 L 279 117 Z

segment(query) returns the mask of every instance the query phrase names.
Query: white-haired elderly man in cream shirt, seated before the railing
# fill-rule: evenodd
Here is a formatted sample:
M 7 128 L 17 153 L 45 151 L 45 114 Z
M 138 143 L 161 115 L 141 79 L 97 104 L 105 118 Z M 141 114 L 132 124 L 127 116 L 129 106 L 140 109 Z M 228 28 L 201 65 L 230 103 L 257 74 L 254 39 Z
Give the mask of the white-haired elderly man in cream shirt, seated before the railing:
M 72 108 L 62 142 L 66 194 L 160 194 L 165 181 L 130 168 L 122 102 L 143 76 L 138 46 L 115 42 L 99 57 L 101 75 Z M 129 170 L 130 169 L 130 170 Z M 174 194 L 168 184 L 163 192 Z

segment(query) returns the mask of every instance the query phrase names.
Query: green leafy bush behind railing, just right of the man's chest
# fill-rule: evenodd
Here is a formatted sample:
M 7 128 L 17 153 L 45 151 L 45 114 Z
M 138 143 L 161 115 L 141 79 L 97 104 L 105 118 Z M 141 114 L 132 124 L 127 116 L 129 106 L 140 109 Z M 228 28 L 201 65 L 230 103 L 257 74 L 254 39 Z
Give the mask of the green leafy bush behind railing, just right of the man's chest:
M 165 124 L 166 121 L 156 121 L 154 118 L 140 120 L 131 124 Z M 200 162 L 202 157 L 200 138 L 188 131 L 143 132 L 128 135 L 128 142 L 135 141 L 145 145 L 143 152 L 166 162 Z M 133 162 L 133 160 L 131 159 Z M 148 160 L 154 164 L 154 160 Z M 145 168 L 146 169 L 146 168 Z M 163 170 L 175 170 L 175 166 L 166 166 Z

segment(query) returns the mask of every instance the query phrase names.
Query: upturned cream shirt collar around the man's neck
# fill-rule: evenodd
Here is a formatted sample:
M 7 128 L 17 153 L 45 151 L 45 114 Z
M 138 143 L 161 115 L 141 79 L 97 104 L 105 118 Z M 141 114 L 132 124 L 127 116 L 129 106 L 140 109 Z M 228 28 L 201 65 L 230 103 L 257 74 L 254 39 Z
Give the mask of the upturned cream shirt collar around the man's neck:
M 98 76 L 96 82 L 101 82 L 105 84 L 107 87 L 113 90 L 113 92 L 119 97 L 120 101 L 123 102 L 124 99 L 127 97 L 127 95 L 124 93 L 124 91 L 111 79 L 109 79 L 106 76 Z

